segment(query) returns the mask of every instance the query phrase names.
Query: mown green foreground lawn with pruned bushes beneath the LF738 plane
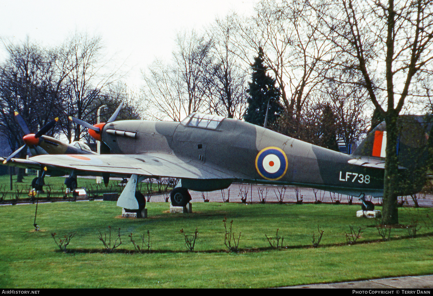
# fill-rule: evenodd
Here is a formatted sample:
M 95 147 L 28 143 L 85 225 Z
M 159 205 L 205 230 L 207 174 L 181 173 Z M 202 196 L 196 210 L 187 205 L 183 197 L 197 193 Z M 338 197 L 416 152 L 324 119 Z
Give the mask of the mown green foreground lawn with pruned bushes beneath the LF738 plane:
M 115 202 L 89 201 L 0 206 L 0 287 L 277 287 L 380 277 L 433 273 L 433 209 L 399 209 L 401 224 L 418 220 L 417 238 L 346 245 L 349 225 L 362 227 L 359 242 L 381 238 L 374 219 L 356 218 L 359 206 L 194 203 L 192 214 L 170 214 L 168 203 L 148 203 L 148 219 L 119 218 Z M 380 208 L 379 208 L 380 209 Z M 223 219 L 233 219 L 239 248 L 258 251 L 226 252 Z M 317 226 L 324 230 L 319 248 L 312 245 Z M 119 249 L 134 250 L 147 230 L 149 254 L 84 253 L 102 249 L 97 236 L 108 226 L 120 228 Z M 199 235 L 196 252 L 186 252 L 180 229 Z M 265 234 L 284 236 L 281 250 L 269 247 Z M 62 253 L 51 233 L 62 237 L 77 232 Z M 112 232 L 112 235 L 115 232 Z M 391 230 L 391 238 L 407 236 L 407 229 Z M 341 245 L 338 245 L 341 244 Z

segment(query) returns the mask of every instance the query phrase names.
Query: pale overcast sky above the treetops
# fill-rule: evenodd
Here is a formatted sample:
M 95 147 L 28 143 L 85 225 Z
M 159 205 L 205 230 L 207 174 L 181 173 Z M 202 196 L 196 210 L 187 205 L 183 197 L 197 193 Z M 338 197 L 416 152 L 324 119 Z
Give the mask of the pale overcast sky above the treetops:
M 116 54 L 130 71 L 128 84 L 139 82 L 139 70 L 155 57 L 171 58 L 176 33 L 202 29 L 231 11 L 253 12 L 258 0 L 0 0 L 0 37 L 45 46 L 60 45 L 75 30 L 100 35 L 107 55 Z M 6 58 L 0 43 L 0 62 Z

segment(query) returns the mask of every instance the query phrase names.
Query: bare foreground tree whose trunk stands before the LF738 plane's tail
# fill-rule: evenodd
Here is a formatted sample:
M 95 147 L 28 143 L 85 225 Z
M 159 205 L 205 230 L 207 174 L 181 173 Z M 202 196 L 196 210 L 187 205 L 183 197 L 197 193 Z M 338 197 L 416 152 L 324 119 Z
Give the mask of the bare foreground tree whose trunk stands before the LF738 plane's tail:
M 327 36 L 338 54 L 334 68 L 356 71 L 361 80 L 331 78 L 343 84 L 362 85 L 385 118 L 382 223 L 398 223 L 397 117 L 407 101 L 417 98 L 416 85 L 431 71 L 433 1 L 334 0 L 310 4 L 326 23 L 322 36 Z

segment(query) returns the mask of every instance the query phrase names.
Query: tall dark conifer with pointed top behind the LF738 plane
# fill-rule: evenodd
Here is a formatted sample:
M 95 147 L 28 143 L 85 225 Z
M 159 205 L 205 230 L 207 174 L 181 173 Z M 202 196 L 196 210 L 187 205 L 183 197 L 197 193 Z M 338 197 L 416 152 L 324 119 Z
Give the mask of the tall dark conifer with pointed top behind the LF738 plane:
M 244 119 L 246 122 L 263 126 L 269 102 L 267 122 L 269 125 L 275 122 L 283 112 L 283 107 L 279 102 L 280 90 L 275 87 L 275 79 L 266 74 L 267 67 L 263 64 L 262 48 L 259 48 L 259 55 L 254 60 L 252 82 L 249 82 L 249 89 L 247 89 L 247 93 L 249 93 L 248 108 Z

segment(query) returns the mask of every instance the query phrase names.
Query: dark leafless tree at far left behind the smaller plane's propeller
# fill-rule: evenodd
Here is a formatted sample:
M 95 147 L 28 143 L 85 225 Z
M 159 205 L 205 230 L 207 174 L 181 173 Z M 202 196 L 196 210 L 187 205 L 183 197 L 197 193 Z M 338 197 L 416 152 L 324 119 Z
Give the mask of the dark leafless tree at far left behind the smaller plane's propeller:
M 41 48 L 29 39 L 22 44 L 4 43 L 9 53 L 0 66 L 0 132 L 8 138 L 12 151 L 23 145 L 22 132 L 16 123 L 18 111 L 30 132 L 36 132 L 55 116 L 64 69 L 58 68 L 59 52 Z M 61 64 L 61 63 L 60 63 Z M 53 135 L 54 131 L 48 131 Z M 25 158 L 27 149 L 19 157 Z M 18 174 L 21 180 L 23 171 Z

